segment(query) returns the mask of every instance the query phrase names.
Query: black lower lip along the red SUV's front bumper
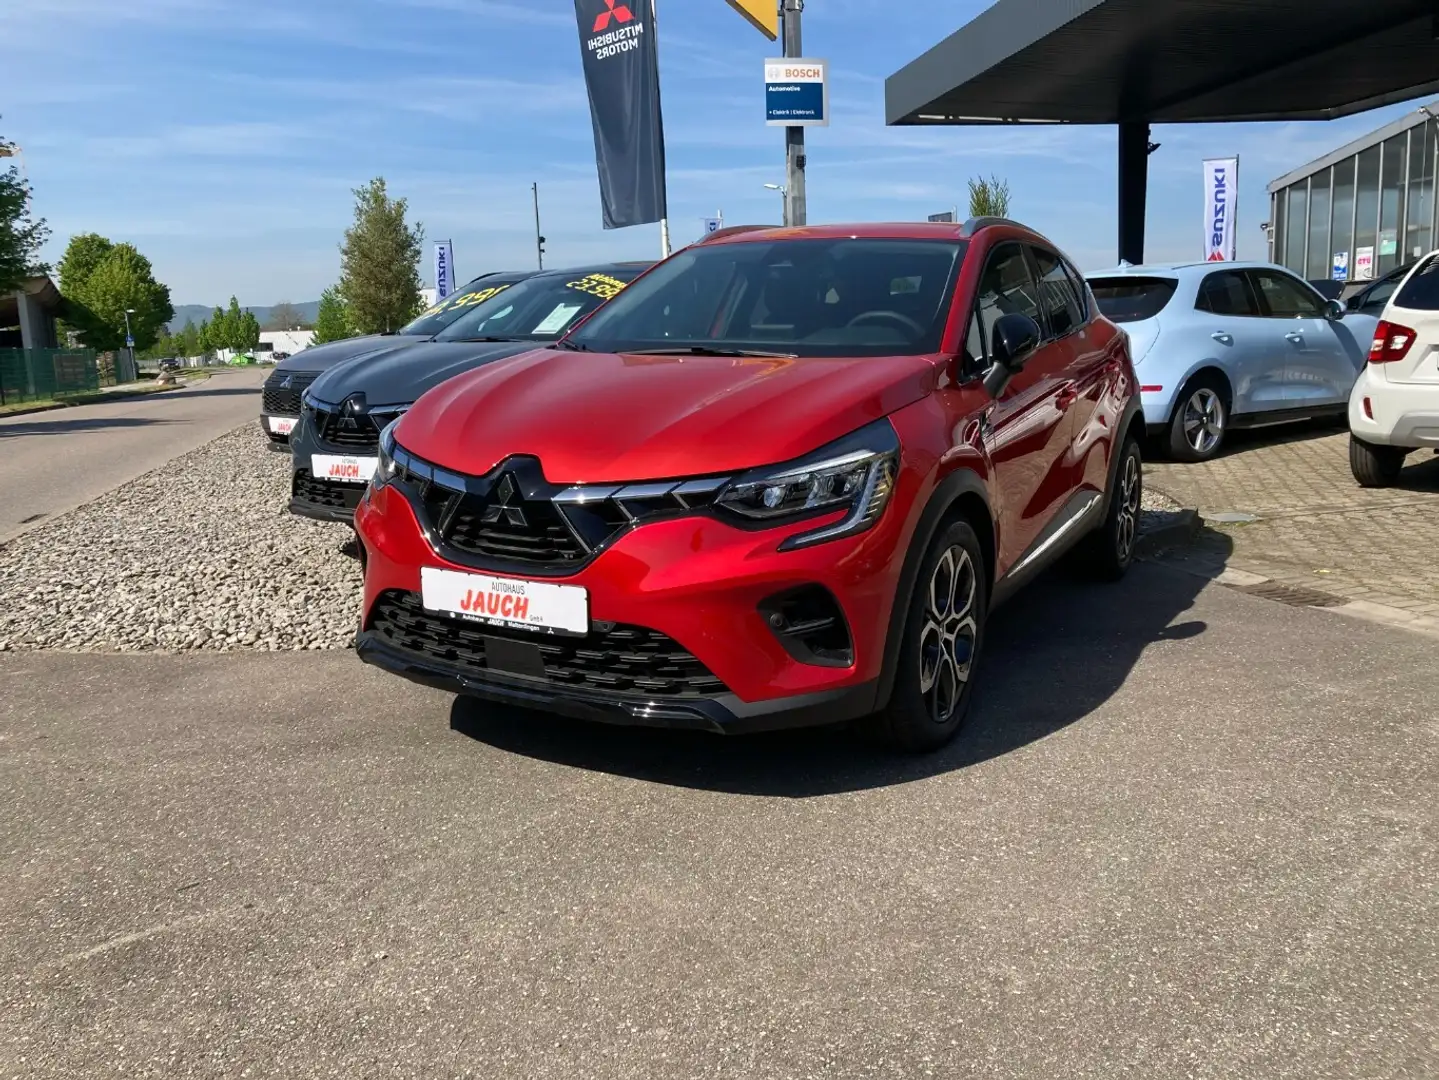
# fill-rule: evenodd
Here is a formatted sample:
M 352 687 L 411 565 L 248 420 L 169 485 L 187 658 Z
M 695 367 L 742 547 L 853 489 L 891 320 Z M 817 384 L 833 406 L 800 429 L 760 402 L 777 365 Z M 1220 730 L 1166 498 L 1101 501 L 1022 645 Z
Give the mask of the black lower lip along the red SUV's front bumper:
M 878 683 L 872 682 L 845 690 L 768 702 L 743 702 L 732 693 L 645 700 L 629 695 L 557 686 L 540 679 L 476 674 L 459 664 L 397 649 L 374 631 L 364 631 L 355 637 L 355 651 L 367 664 L 422 686 L 498 705 L 538 709 L 600 723 L 707 731 L 720 735 L 816 728 L 853 720 L 873 712 L 878 693 Z

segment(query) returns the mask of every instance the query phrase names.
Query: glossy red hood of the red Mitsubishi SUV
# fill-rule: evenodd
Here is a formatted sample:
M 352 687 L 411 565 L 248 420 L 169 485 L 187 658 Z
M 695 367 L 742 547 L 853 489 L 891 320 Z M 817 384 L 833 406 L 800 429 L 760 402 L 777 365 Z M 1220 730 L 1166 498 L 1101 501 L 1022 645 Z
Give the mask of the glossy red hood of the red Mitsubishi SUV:
M 435 465 L 482 476 L 511 454 L 551 483 L 659 480 L 773 465 L 918 401 L 930 357 L 768 360 L 540 349 L 425 394 L 396 429 Z

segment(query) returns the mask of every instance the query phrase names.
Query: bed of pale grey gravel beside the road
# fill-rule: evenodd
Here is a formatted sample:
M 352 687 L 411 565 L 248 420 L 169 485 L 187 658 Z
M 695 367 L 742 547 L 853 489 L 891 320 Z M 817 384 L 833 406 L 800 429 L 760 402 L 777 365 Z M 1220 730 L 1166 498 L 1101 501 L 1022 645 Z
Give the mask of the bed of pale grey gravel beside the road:
M 285 511 L 248 423 L 0 546 L 0 650 L 347 649 L 353 532 Z

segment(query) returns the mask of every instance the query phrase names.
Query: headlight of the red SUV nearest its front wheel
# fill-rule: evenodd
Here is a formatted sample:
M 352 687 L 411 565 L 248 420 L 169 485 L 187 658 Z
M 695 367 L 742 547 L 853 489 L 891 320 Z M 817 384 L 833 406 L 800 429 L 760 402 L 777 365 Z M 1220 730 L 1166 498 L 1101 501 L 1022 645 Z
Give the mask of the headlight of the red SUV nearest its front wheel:
M 832 525 L 789 536 L 780 551 L 793 551 L 871 528 L 889 503 L 898 467 L 899 437 L 879 420 L 797 462 L 737 476 L 715 506 L 757 525 L 849 511 Z

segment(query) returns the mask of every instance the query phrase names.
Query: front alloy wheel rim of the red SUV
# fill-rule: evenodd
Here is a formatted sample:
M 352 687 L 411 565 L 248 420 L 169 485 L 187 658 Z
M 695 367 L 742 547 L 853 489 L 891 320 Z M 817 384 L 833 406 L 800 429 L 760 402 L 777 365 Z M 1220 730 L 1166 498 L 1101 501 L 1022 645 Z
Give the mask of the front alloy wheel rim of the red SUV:
M 920 692 L 934 723 L 958 712 L 979 640 L 974 601 L 979 581 L 970 552 L 954 545 L 934 567 L 920 631 Z

